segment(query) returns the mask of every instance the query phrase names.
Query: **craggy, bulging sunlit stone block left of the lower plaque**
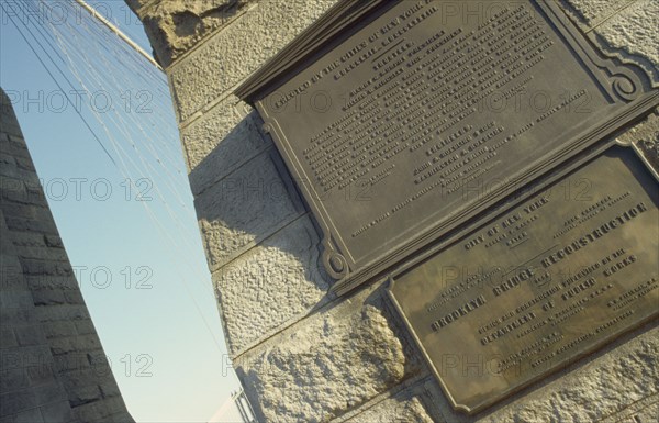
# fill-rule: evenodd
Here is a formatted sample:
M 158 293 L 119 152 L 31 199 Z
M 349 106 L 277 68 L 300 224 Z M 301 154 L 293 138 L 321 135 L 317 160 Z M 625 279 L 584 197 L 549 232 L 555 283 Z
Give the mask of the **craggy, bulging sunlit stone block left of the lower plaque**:
M 328 422 L 395 386 L 405 357 L 381 311 L 344 303 L 238 359 L 267 422 Z

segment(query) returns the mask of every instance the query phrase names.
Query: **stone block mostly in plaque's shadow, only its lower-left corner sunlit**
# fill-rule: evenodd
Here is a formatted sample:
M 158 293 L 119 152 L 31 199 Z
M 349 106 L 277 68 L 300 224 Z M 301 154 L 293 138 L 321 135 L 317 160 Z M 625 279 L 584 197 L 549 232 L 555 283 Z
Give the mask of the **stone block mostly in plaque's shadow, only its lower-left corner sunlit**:
M 270 152 L 260 154 L 194 200 L 211 270 L 302 213 L 290 194 L 294 189 L 279 176 L 272 159 Z

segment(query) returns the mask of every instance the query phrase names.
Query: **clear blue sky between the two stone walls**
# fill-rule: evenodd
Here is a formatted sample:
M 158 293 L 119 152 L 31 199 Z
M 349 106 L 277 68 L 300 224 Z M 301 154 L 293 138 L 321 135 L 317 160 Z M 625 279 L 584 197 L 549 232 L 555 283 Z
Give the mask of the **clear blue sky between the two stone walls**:
M 142 25 L 123 1 L 89 3 L 150 52 Z M 225 350 L 178 134 L 171 130 L 165 137 L 169 144 L 158 154 L 167 153 L 168 160 L 153 177 L 126 178 L 75 108 L 59 103 L 59 88 L 4 13 L 0 23 L 0 86 L 14 99 L 129 410 L 141 422 L 208 421 L 238 385 Z M 129 101 L 137 105 L 141 99 L 134 96 Z M 157 118 L 175 127 L 170 102 L 153 105 L 165 114 Z M 91 114 L 83 115 L 102 134 Z M 137 118 L 148 130 L 156 116 Z M 179 189 L 181 198 L 174 198 L 165 183 Z M 148 204 L 137 191 L 147 191 Z

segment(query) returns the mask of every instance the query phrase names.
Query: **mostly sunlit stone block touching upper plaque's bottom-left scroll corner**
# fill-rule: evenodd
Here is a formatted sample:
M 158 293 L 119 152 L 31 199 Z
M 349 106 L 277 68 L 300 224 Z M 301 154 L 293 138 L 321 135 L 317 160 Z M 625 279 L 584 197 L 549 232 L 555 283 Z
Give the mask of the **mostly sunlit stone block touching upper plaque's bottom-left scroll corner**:
M 322 302 L 328 278 L 319 270 L 319 243 L 303 216 L 213 274 L 232 354 Z

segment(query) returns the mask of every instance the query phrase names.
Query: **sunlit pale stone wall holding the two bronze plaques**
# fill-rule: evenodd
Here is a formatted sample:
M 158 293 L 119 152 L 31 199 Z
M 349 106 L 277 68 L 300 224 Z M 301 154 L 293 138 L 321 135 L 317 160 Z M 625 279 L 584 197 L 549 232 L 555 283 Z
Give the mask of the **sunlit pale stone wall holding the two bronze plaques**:
M 347 298 L 327 293 L 313 218 L 258 114 L 232 92 L 333 0 L 129 3 L 166 67 L 228 349 L 260 421 L 656 419 L 656 323 L 466 418 L 418 358 L 381 285 Z M 657 73 L 657 1 L 560 3 L 595 44 Z M 651 143 L 658 121 L 624 136 Z

